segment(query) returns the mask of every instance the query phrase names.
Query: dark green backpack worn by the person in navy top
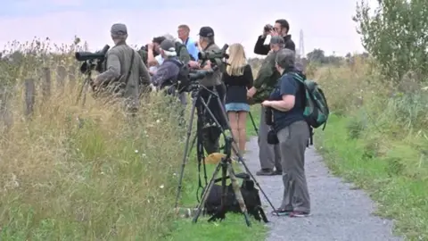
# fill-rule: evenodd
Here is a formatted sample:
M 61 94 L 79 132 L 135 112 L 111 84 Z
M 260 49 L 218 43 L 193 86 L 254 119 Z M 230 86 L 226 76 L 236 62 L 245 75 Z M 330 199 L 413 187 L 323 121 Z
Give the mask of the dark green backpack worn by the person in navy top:
M 303 79 L 297 73 L 292 73 L 292 76 L 305 87 L 305 111 L 303 115 L 306 121 L 311 128 L 317 129 L 323 126 L 324 130 L 330 111 L 323 90 L 314 80 Z

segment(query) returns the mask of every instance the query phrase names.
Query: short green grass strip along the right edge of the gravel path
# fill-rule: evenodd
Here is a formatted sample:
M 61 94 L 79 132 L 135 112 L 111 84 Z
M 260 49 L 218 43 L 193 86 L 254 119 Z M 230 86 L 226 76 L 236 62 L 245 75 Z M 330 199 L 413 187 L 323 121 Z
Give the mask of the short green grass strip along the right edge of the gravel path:
M 426 159 L 417 158 L 416 146 L 406 140 L 391 141 L 384 154 L 374 154 L 374 144 L 369 142 L 373 134 L 350 137 L 352 120 L 333 115 L 325 132 L 317 132 L 317 148 L 325 162 L 336 174 L 367 190 L 379 203 L 377 214 L 396 220 L 398 234 L 409 240 L 427 240 L 428 179 L 409 173 L 400 163 Z M 426 168 L 426 163 L 420 168 Z

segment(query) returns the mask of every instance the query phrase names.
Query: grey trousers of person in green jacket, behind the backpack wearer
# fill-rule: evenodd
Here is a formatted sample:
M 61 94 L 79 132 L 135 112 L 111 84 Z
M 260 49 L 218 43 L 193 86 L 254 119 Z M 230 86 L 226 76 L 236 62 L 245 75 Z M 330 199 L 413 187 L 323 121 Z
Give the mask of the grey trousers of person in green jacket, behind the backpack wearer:
M 269 126 L 265 121 L 265 107 L 261 106 L 259 123 L 259 161 L 261 169 L 283 170 L 279 145 L 268 144 Z

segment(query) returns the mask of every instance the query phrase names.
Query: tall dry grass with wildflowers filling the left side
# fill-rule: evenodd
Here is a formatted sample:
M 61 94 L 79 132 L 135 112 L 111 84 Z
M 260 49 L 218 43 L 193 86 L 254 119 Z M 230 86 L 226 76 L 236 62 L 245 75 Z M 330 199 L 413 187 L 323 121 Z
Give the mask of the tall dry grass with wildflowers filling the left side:
M 168 100 L 144 98 L 131 120 L 91 96 L 76 104 L 77 87 L 60 92 L 53 75 L 53 95 L 43 100 L 37 85 L 35 112 L 24 116 L 23 79 L 39 84 L 42 67 L 76 64 L 78 47 L 52 56 L 43 54 L 47 45 L 20 45 L 33 53 L 1 63 L 13 122 L 0 137 L 0 239 L 161 239 L 171 229 L 184 146 Z

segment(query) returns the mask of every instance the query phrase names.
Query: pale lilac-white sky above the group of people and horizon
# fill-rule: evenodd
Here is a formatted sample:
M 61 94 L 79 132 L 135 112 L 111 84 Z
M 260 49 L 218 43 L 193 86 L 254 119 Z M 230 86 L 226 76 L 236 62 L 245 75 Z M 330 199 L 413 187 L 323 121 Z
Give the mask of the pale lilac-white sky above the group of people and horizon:
M 375 2 L 370 0 L 369 2 Z M 91 50 L 112 46 L 111 24 L 128 26 L 128 44 L 143 46 L 165 33 L 177 36 L 177 26 L 187 24 L 191 37 L 202 26 L 215 31 L 218 46 L 241 43 L 248 56 L 266 23 L 277 19 L 290 23 L 296 47 L 300 29 L 305 54 L 314 48 L 325 54 L 345 55 L 364 51 L 356 32 L 355 0 L 14 0 L 0 8 L 0 48 L 12 40 L 31 41 L 49 37 L 56 44 L 71 44 L 74 36 L 88 42 Z

